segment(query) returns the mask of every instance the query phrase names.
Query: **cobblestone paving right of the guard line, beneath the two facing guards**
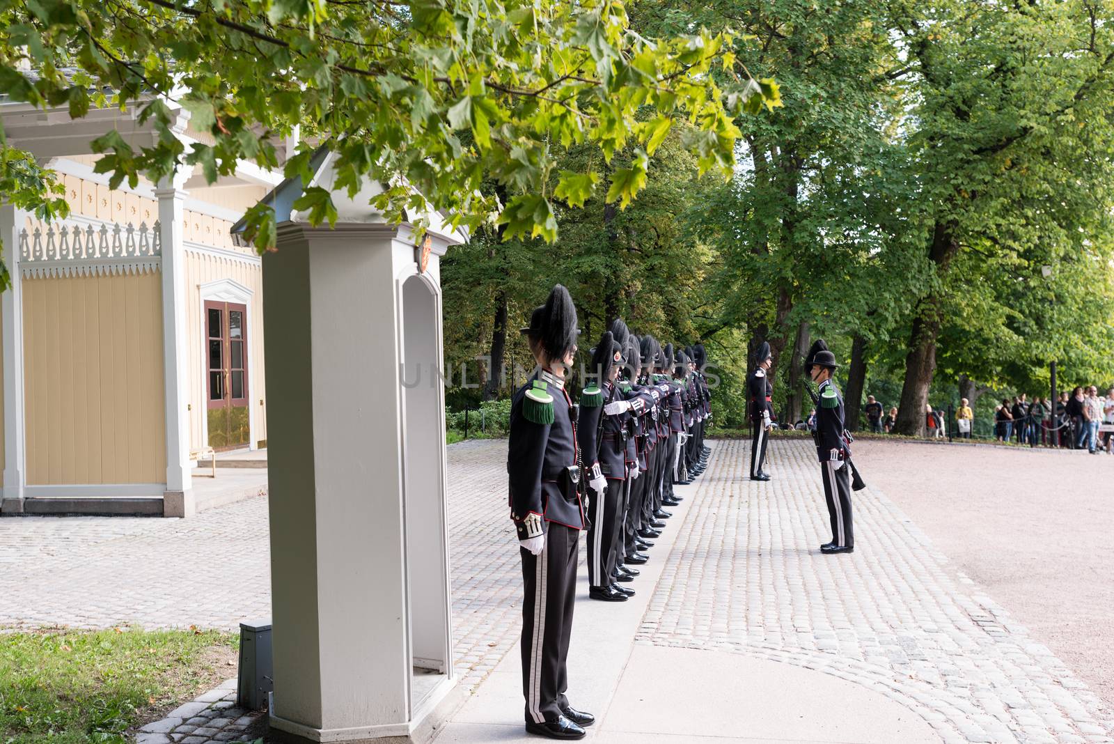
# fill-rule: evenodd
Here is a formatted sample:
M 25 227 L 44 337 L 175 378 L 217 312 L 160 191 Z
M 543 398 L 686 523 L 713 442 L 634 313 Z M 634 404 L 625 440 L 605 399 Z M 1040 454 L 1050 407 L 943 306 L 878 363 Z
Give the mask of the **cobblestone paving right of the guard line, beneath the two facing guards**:
M 821 669 L 912 708 L 946 742 L 1112 742 L 1114 717 L 883 493 L 853 497 L 856 551 L 830 538 L 811 442 L 720 442 L 638 633 Z M 863 473 L 870 480 L 870 473 Z

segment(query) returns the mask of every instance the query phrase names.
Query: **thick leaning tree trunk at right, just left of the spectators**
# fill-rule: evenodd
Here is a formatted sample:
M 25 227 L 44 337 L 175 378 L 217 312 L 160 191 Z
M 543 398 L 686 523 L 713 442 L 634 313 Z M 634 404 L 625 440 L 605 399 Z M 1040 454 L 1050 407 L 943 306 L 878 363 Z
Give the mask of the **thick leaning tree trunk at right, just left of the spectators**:
M 942 280 L 951 257 L 959 249 L 950 225 L 937 223 L 932 229 L 929 258 L 936 264 L 937 276 Z M 893 431 L 910 437 L 925 434 L 925 408 L 928 405 L 928 390 L 936 372 L 936 340 L 940 335 L 942 298 L 939 294 L 928 294 L 917 304 L 917 316 L 909 333 L 909 351 L 906 354 L 906 378 L 901 386 L 901 402 Z

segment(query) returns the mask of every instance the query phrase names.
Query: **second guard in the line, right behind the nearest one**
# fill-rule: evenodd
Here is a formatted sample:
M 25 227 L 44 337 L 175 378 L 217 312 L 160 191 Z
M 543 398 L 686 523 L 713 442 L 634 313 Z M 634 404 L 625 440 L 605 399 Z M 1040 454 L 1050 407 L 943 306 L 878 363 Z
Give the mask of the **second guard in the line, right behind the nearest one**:
M 610 331 L 592 350 L 588 374 L 597 382 L 580 394 L 577 432 L 588 469 L 588 596 L 604 601 L 626 601 L 634 590 L 617 584 L 615 541 L 623 519 L 626 483 L 626 440 L 620 417 L 631 404 L 615 385 L 623 354 Z

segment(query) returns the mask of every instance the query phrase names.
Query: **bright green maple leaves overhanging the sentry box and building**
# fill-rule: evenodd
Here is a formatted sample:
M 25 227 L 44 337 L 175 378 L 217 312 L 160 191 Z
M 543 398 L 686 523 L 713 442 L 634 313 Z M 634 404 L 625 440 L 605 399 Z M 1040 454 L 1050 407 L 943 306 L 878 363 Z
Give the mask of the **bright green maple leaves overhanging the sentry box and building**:
M 700 135 L 700 168 L 730 176 L 733 119 L 779 104 L 769 80 L 712 75 L 730 67 L 730 31 L 646 38 L 617 0 L 36 0 L 0 6 L 0 92 L 11 99 L 72 117 L 118 106 L 154 123 L 150 145 L 116 133 L 95 143 L 114 185 L 186 165 L 209 183 L 237 160 L 274 168 L 276 144 L 300 128 L 287 176 L 309 180 L 313 143 L 338 154 L 350 195 L 369 179 L 385 185 L 373 205 L 391 221 L 429 199 L 453 227 L 498 222 L 508 239 L 553 242 L 554 198 L 583 200 L 571 178 L 556 194 L 560 150 L 588 145 L 608 160 L 653 150 L 668 123 L 685 120 Z M 213 144 L 186 151 L 167 101 Z M 634 126 L 644 110 L 657 124 Z M 41 169 L 0 141 L 0 163 L 20 158 L 30 175 L 0 170 L 0 185 L 18 180 L 18 198 L 46 208 L 47 189 L 33 183 Z M 629 170 L 608 187 L 624 205 L 645 184 L 644 161 Z M 508 198 L 481 188 L 485 179 Z M 331 194 L 300 205 L 314 224 L 335 219 Z M 272 213 L 250 212 L 245 237 L 272 247 Z

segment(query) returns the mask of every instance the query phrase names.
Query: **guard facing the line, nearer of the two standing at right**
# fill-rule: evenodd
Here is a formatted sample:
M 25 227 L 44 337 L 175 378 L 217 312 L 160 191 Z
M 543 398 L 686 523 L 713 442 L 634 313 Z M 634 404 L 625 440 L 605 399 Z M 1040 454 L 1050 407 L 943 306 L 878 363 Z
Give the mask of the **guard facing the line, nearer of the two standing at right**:
M 828 500 L 828 516 L 832 525 L 832 540 L 820 546 L 824 554 L 853 552 L 854 529 L 851 522 L 851 449 L 843 429 L 843 398 L 840 395 L 832 374 L 836 372 L 836 355 L 823 342 L 810 359 L 804 371 L 820 390 L 817 407 L 817 457 L 824 481 L 824 498 Z

